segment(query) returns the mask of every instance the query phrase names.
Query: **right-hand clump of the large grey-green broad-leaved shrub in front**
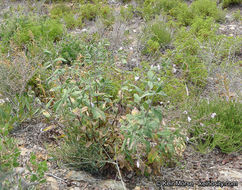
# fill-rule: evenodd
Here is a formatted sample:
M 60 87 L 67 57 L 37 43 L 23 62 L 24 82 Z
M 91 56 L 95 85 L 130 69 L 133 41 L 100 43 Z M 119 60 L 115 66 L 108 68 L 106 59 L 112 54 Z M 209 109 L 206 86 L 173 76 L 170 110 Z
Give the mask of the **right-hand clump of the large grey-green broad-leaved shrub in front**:
M 161 127 L 163 113 L 156 101 L 165 96 L 165 89 L 163 81 L 157 79 L 156 68 L 149 69 L 139 81 L 130 85 L 130 88 L 123 87 L 133 92 L 134 107 L 131 114 L 127 114 L 121 122 L 124 134 L 122 150 L 129 163 L 139 168 L 141 173 L 158 174 L 161 166 L 174 164 L 177 158 L 175 149 L 181 145 L 175 144 L 174 140 L 181 135 L 178 130 L 172 132 L 168 127 Z M 140 88 L 142 86 L 144 90 Z M 140 166 L 135 166 L 134 161 Z

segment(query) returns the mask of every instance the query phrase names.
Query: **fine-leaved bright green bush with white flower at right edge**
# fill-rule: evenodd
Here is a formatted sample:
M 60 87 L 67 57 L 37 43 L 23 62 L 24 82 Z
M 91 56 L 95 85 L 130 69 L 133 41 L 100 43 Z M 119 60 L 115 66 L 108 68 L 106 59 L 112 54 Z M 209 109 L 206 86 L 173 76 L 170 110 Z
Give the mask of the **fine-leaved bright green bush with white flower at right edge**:
M 241 103 L 223 99 L 199 101 L 192 109 L 191 141 L 199 150 L 218 147 L 222 152 L 240 152 Z

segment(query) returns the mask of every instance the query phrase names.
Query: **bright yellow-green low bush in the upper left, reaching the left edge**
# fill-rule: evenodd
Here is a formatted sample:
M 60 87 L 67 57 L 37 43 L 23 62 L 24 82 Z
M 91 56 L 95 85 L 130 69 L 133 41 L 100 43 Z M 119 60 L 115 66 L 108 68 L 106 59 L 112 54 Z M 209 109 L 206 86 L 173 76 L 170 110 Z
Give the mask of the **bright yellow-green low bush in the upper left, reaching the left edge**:
M 2 52 L 8 51 L 10 44 L 31 51 L 31 48 L 36 49 L 60 40 L 63 33 L 64 26 L 53 19 L 34 16 L 11 18 L 6 24 L 1 25 Z

